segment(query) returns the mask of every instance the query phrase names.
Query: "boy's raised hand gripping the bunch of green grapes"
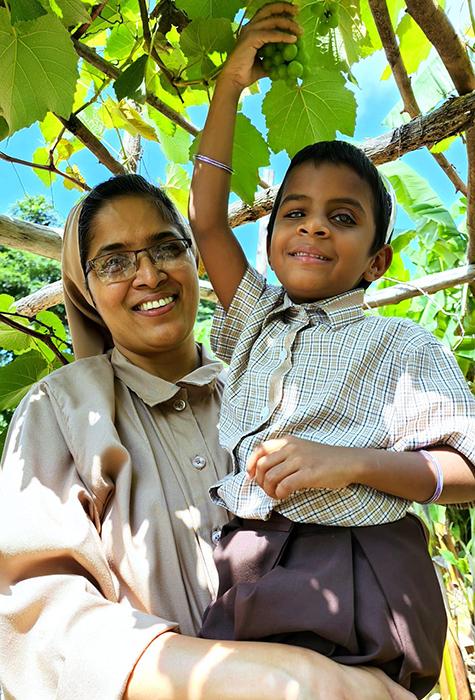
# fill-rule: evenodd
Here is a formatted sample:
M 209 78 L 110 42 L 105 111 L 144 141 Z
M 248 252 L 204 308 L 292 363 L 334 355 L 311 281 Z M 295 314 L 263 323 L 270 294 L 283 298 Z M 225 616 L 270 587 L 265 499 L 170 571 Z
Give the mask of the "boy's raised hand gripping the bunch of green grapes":
M 262 7 L 239 35 L 238 42 L 223 66 L 218 82 L 230 81 L 239 91 L 252 85 L 266 73 L 258 50 L 265 44 L 293 44 L 302 33 L 294 20 L 298 8 L 287 2 L 274 2 Z

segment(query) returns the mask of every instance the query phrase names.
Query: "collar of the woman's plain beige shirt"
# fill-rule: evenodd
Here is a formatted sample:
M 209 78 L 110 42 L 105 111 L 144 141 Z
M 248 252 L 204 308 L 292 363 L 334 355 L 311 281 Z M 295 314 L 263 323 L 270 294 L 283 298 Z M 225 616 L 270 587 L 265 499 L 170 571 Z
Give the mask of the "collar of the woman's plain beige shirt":
M 117 348 L 113 348 L 110 352 L 110 359 L 115 375 L 144 403 L 155 406 L 171 399 L 181 388 L 207 388 L 208 393 L 214 390 L 216 380 L 223 371 L 223 365 L 212 357 L 204 346 L 199 345 L 199 348 L 201 365 L 182 377 L 176 384 L 156 377 L 132 364 Z

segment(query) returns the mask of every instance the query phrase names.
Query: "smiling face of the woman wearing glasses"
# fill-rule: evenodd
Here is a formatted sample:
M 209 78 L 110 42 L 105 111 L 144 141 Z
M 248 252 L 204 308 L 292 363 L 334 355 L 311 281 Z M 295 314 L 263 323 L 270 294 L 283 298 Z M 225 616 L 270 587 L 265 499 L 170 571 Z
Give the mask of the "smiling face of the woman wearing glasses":
M 88 259 L 112 247 L 114 251 L 145 248 L 164 234 L 167 239 L 183 237 L 152 200 L 139 195 L 115 197 L 92 220 Z M 164 267 L 155 265 L 146 252 L 139 253 L 136 274 L 125 281 L 104 284 L 94 270 L 87 279 L 115 346 L 131 362 L 160 374 L 163 356 L 171 353 L 177 363 L 179 358 L 196 357 L 193 326 L 199 287 L 191 250 Z

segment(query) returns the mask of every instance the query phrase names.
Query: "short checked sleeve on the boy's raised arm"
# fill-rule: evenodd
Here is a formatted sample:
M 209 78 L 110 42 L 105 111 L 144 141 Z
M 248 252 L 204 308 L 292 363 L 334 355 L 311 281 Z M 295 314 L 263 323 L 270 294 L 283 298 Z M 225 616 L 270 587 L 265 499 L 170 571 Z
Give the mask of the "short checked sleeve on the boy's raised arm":
M 262 322 L 264 309 L 268 311 L 268 304 L 262 303 L 268 289 L 264 277 L 248 266 L 228 311 L 221 304 L 216 305 L 211 348 L 223 362 L 230 364 L 234 348 L 250 319 L 255 324 Z

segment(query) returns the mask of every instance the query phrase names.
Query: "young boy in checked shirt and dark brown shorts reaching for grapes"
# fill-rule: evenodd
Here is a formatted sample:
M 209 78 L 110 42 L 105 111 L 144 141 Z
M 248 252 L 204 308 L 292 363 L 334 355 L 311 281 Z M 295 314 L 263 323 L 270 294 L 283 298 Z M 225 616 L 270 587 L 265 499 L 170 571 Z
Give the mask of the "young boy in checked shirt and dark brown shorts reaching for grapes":
M 284 13 L 284 14 L 282 14 Z M 233 474 L 211 489 L 237 517 L 216 550 L 202 635 L 307 646 L 378 666 L 423 697 L 438 677 L 445 613 L 411 501 L 475 495 L 475 408 L 455 361 L 410 321 L 367 317 L 363 290 L 390 265 L 391 199 L 342 142 L 292 160 L 269 221 L 271 287 L 227 223 L 241 91 L 256 53 L 299 32 L 286 3 L 241 33 L 196 157 L 190 221 L 230 364 L 220 438 Z M 427 449 L 425 449 L 427 448 Z

